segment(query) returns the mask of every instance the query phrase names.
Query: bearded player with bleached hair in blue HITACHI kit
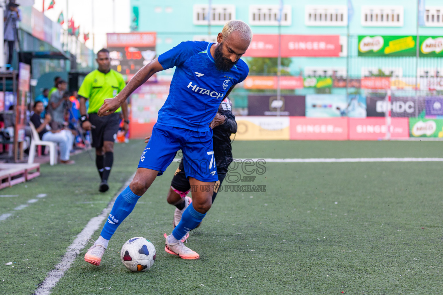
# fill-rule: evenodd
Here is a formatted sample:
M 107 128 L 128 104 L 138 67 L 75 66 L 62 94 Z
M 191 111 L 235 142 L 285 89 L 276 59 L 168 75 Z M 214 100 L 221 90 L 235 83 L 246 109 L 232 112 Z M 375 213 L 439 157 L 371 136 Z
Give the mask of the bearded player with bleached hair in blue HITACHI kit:
M 245 80 L 249 69 L 240 57 L 252 40 L 252 31 L 241 20 L 231 20 L 218 33 L 217 43 L 187 41 L 159 55 L 140 69 L 114 98 L 105 100 L 99 116 L 116 111 L 128 96 L 154 73 L 175 68 L 169 95 L 159 110 L 151 138 L 141 154 L 131 184 L 115 200 L 100 237 L 85 254 L 85 261 L 99 265 L 109 239 L 135 207 L 137 200 L 162 175 L 179 149 L 191 186 L 193 202 L 187 206 L 172 234 L 164 234 L 165 251 L 183 259 L 198 259 L 181 239 L 205 217 L 212 203 L 213 186 L 218 180 L 214 159 L 212 128 L 223 123 L 216 117 L 218 107 L 233 87 Z M 211 125 L 210 125 L 211 124 Z M 200 190 L 201 188 L 201 190 Z

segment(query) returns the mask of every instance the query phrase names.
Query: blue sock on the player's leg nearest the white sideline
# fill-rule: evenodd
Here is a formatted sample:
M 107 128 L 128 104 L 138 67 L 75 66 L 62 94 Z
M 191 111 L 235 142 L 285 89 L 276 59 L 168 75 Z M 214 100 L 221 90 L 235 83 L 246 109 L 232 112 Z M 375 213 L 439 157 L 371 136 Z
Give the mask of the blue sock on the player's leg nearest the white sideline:
M 132 212 L 138 199 L 140 199 L 140 197 L 134 194 L 129 186 L 118 195 L 111 213 L 108 216 L 108 220 L 106 220 L 105 226 L 103 226 L 103 229 L 101 230 L 100 235 L 103 238 L 106 240 L 111 239 L 120 223 Z

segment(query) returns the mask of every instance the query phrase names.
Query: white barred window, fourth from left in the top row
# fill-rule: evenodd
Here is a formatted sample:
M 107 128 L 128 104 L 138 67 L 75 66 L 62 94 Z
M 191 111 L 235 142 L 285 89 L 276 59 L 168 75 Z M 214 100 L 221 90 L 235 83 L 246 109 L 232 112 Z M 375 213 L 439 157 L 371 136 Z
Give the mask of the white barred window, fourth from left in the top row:
M 361 6 L 362 27 L 403 27 L 403 24 L 404 9 L 401 5 Z

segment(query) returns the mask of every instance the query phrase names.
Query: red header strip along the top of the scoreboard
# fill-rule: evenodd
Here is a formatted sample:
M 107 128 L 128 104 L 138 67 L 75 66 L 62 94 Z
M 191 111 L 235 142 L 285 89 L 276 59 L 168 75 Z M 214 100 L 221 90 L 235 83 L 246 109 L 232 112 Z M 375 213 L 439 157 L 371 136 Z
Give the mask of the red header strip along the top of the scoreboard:
M 155 47 L 155 32 L 145 33 L 108 33 L 108 47 Z

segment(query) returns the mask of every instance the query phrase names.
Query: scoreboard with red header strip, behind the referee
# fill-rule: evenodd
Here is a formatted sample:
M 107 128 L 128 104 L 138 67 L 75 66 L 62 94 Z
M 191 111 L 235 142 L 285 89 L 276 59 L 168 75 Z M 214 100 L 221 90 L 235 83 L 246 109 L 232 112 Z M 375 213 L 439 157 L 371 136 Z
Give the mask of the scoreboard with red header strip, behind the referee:
M 108 33 L 111 68 L 130 79 L 155 58 L 156 33 Z

